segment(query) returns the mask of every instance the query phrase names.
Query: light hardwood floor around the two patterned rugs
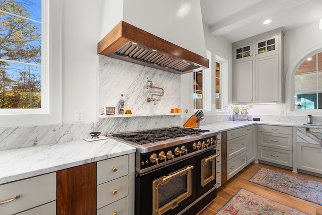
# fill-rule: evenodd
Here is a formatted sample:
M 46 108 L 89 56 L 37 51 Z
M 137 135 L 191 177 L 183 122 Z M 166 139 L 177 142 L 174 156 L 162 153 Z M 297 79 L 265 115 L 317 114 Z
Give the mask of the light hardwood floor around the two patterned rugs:
M 318 204 L 314 204 L 250 182 L 249 179 L 255 173 L 257 173 L 257 171 L 261 167 L 322 182 L 321 177 L 312 176 L 304 173 L 293 173 L 291 170 L 278 168 L 266 164 L 252 163 L 248 165 L 246 168 L 244 168 L 242 171 L 237 173 L 234 177 L 229 179 L 226 183 L 221 185 L 217 189 L 217 197 L 207 206 L 207 208 L 201 211 L 199 215 L 214 215 L 240 188 L 262 195 L 264 197 L 267 197 L 284 205 L 296 208 L 311 215 L 322 214 L 322 206 Z

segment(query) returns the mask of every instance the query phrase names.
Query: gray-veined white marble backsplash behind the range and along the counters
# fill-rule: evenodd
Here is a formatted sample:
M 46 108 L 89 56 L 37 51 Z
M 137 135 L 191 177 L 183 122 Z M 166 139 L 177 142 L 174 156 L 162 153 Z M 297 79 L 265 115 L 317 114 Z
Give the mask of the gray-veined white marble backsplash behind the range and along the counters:
M 133 114 L 156 114 L 155 116 L 108 117 L 99 118 L 98 131 L 102 135 L 124 131 L 149 128 L 182 126 L 189 116 L 165 115 L 171 108 L 180 107 L 180 75 L 168 73 L 146 66 L 141 66 L 106 56 L 99 57 L 99 101 L 98 110 L 102 114 L 103 107 L 113 106 L 118 113 L 120 94 L 124 94 L 125 108 Z M 147 89 L 147 81 L 156 87 L 164 88 L 163 97 L 153 102 L 146 102 L 151 93 L 159 94 L 159 90 Z M 207 114 L 206 114 L 207 115 Z M 261 121 L 306 122 L 306 116 L 253 116 Z M 211 124 L 231 120 L 231 115 L 208 115 L 201 124 Z M 322 117 L 314 117 L 314 124 L 321 124 Z M 39 145 L 57 144 L 71 140 L 90 137 L 92 123 L 75 123 L 63 125 L 44 125 L 30 127 L 0 128 L 0 150 L 18 149 Z M 316 135 L 315 135 L 316 136 Z M 315 140 L 317 136 L 314 137 Z

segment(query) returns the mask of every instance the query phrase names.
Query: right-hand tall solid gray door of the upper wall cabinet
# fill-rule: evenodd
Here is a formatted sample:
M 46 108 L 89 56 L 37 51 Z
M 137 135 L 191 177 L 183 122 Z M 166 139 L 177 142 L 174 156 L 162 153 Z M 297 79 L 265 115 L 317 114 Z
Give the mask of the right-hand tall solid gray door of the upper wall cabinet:
M 278 102 L 278 55 L 255 60 L 255 102 Z

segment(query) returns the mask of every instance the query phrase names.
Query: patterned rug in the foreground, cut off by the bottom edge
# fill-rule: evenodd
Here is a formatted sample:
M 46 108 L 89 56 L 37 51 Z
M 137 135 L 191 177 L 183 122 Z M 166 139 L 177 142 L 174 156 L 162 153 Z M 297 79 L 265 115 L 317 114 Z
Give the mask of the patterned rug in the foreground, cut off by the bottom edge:
M 280 204 L 271 199 L 240 189 L 216 214 L 284 214 L 302 215 L 302 211 Z

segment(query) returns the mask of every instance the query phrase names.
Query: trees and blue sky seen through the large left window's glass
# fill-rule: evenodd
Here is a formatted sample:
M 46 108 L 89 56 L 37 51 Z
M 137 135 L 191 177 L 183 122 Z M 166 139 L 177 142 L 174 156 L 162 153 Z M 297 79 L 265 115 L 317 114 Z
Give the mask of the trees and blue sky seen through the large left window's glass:
M 2 0 L 0 29 L 0 108 L 41 108 L 41 0 Z

